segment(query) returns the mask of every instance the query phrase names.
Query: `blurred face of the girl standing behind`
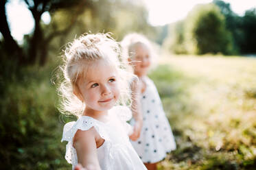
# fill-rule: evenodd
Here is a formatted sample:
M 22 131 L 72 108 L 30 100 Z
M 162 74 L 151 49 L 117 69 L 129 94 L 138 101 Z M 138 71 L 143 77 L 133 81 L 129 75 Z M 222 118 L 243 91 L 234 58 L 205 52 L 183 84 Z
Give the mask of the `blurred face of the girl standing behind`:
M 134 65 L 135 74 L 138 77 L 147 75 L 151 63 L 148 48 L 143 44 L 135 45 L 134 53 L 132 65 Z

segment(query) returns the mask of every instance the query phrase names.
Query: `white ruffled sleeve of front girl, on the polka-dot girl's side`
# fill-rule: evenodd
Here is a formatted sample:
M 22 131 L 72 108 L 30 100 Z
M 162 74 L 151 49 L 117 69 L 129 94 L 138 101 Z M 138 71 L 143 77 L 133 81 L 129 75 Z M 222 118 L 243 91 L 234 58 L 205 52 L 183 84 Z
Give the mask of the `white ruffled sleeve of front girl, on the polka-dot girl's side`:
M 110 110 L 110 112 L 113 112 L 113 114 L 115 114 L 115 116 L 119 119 L 126 133 L 128 135 L 132 134 L 133 128 L 129 123 L 127 123 L 127 121 L 132 119 L 132 112 L 130 108 L 126 106 L 115 106 Z

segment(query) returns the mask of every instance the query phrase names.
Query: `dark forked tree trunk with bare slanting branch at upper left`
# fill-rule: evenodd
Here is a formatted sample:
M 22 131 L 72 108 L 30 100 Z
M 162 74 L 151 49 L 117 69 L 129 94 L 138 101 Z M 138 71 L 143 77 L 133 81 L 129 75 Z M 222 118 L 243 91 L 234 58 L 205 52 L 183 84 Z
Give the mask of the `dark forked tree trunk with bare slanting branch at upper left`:
M 23 47 L 19 47 L 17 42 L 12 38 L 10 34 L 10 28 L 8 26 L 5 4 L 8 3 L 8 0 L 3 0 L 0 3 L 0 21 L 1 29 L 0 32 L 3 35 L 3 45 L 5 48 L 5 53 L 10 58 L 17 60 L 20 65 L 34 64 L 36 60 L 39 61 L 40 65 L 45 64 L 47 58 L 47 49 L 49 41 L 60 35 L 66 34 L 71 29 L 72 25 L 75 23 L 78 14 L 84 11 L 86 8 L 92 8 L 91 1 L 66 1 L 66 0 L 24 0 L 27 4 L 28 10 L 32 12 L 34 19 L 34 32 L 27 37 L 27 51 Z M 65 28 L 62 30 L 52 29 L 49 35 L 45 36 L 43 33 L 43 23 L 41 22 L 41 16 L 44 12 L 53 13 L 59 9 L 70 9 L 74 6 L 80 8 L 75 8 L 72 19 L 66 23 Z

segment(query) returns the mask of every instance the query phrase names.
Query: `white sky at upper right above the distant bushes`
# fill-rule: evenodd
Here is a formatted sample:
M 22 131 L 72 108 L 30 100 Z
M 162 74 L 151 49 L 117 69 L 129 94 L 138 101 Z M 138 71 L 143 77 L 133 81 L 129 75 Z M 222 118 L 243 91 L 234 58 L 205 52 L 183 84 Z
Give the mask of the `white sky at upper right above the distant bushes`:
M 152 25 L 165 25 L 184 19 L 187 13 L 198 3 L 210 3 L 212 0 L 144 0 L 149 11 Z M 231 4 L 231 10 L 243 15 L 250 8 L 256 8 L 255 0 L 224 0 Z

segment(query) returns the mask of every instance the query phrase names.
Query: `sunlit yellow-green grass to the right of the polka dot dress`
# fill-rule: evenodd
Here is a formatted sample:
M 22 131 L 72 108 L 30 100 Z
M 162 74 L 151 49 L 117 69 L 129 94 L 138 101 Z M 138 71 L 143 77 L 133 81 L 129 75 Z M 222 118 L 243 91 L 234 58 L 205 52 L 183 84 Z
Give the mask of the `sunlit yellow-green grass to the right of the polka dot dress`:
M 159 169 L 255 169 L 256 58 L 164 56 L 152 71 L 178 149 Z

